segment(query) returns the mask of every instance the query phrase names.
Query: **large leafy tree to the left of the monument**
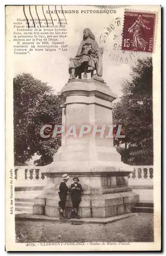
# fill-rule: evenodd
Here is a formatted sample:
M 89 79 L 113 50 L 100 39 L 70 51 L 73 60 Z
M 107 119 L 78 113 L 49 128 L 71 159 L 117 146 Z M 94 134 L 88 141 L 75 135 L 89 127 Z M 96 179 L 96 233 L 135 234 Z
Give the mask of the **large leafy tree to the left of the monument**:
M 61 145 L 61 138 L 44 139 L 40 129 L 44 124 L 61 124 L 61 100 L 47 83 L 30 74 L 17 75 L 13 79 L 14 104 L 14 162 L 23 165 L 37 153 L 34 164 L 45 165 Z M 52 133 L 45 131 L 46 133 Z

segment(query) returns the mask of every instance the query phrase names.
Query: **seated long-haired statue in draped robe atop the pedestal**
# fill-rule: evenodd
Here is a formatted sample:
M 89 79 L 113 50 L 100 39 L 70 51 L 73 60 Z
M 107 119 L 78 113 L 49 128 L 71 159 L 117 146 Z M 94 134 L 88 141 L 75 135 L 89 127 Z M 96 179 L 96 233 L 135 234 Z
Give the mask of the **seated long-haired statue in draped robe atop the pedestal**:
M 77 55 L 75 58 L 70 58 L 68 69 L 70 74 L 69 80 L 75 79 L 77 76 L 81 78 L 81 73 L 83 72 L 83 78 L 87 79 L 87 72 L 97 70 L 97 75 L 94 76 L 94 79 L 104 82 L 102 78 L 102 54 L 103 49 L 99 48 L 91 30 L 88 28 L 84 29 L 83 40 L 81 41 Z

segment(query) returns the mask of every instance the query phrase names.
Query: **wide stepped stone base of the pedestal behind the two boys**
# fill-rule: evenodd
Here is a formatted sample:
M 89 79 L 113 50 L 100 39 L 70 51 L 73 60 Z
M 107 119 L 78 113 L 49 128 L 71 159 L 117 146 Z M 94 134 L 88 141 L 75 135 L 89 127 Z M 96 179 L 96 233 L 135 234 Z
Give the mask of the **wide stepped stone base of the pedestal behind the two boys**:
M 109 218 L 130 213 L 135 203 L 139 201 L 139 196 L 128 186 L 128 178 L 118 176 L 120 174 L 127 175 L 126 172 L 110 172 L 109 174 L 102 173 L 102 175 L 93 173 L 92 177 L 90 175 L 79 177 L 84 189 L 78 209 L 82 218 Z M 57 174 L 54 173 L 54 175 Z M 58 186 L 61 178 L 52 177 L 51 179 L 54 180 L 53 186 L 45 189 L 42 195 L 34 199 L 34 215 L 59 217 Z M 72 177 L 70 183 L 72 183 Z M 70 183 L 67 183 L 67 185 L 70 185 Z M 72 210 L 72 207 L 72 201 L 70 195 L 68 195 L 64 212 L 66 216 Z

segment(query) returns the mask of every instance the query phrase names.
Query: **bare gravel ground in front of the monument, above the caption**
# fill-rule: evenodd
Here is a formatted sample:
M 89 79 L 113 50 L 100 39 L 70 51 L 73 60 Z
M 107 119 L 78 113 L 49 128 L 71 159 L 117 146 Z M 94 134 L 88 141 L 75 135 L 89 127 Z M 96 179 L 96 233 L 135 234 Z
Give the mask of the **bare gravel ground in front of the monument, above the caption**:
M 16 221 L 16 242 L 153 242 L 153 214 L 114 223 L 81 224 Z

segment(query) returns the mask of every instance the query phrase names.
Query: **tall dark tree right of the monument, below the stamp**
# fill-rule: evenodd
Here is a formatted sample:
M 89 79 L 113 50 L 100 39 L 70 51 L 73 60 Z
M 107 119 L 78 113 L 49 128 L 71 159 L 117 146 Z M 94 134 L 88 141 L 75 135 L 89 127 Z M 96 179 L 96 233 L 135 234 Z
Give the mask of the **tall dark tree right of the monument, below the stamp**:
M 152 70 L 152 58 L 138 59 L 131 80 L 122 85 L 123 96 L 114 104 L 113 119 L 123 125 L 126 136 L 114 143 L 129 164 L 153 164 Z

